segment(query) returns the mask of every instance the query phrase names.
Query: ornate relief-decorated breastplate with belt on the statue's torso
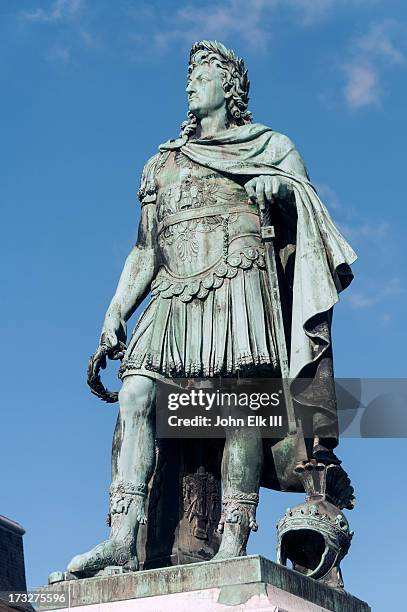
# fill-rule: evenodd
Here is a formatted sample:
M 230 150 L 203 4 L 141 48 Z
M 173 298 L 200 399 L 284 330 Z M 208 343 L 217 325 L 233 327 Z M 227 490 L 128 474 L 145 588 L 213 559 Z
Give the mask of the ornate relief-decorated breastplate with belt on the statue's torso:
M 171 152 L 157 173 L 158 243 L 165 268 L 180 278 L 226 260 L 231 243 L 259 243 L 256 207 L 244 187 Z M 254 240 L 254 242 L 253 242 Z

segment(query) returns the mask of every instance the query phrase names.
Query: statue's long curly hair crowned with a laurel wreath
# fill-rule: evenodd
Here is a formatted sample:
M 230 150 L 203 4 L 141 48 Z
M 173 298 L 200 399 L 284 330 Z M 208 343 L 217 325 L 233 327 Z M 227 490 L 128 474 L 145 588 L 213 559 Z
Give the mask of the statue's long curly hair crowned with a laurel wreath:
M 222 75 L 222 86 L 227 95 L 228 122 L 244 125 L 252 122 L 252 114 L 247 110 L 250 81 L 244 61 L 231 49 L 226 49 L 217 41 L 202 40 L 192 45 L 189 54 L 188 78 L 193 69 L 201 64 L 214 64 Z M 197 119 L 190 111 L 188 119 L 181 125 L 181 135 L 190 136 L 197 128 Z

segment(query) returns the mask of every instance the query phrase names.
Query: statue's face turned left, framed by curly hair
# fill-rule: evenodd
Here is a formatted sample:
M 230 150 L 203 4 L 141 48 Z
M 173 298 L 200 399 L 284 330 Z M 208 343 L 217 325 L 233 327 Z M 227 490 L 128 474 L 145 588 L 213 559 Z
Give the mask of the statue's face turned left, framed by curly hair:
M 187 94 L 189 110 L 197 119 L 226 106 L 221 73 L 213 64 L 202 64 L 193 69 Z

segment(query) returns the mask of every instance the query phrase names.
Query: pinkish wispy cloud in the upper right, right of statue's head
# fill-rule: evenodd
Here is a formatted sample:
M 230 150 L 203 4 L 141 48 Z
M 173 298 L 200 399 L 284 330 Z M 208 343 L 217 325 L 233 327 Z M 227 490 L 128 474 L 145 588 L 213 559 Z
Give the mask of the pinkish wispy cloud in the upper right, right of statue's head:
M 353 41 L 350 59 L 343 64 L 343 94 L 351 109 L 380 105 L 383 71 L 404 63 L 404 53 L 395 42 L 399 30 L 394 20 L 385 19 Z

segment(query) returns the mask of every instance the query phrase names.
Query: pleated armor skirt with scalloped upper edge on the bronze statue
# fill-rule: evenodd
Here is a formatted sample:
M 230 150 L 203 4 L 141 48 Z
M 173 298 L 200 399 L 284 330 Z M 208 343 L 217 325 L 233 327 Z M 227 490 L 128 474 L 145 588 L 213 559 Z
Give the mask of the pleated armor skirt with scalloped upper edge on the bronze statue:
M 200 278 L 174 278 L 162 268 L 151 289 L 121 378 L 278 374 L 261 248 L 242 249 Z

